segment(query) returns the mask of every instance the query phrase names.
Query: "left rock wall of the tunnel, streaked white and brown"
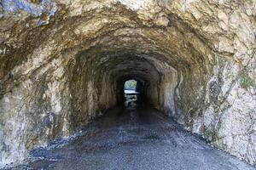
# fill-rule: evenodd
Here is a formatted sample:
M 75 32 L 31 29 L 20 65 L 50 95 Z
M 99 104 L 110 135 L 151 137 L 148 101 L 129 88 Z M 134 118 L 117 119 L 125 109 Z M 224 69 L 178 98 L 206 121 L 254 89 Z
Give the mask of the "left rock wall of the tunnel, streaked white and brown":
M 72 135 L 116 105 L 109 77 L 96 77 L 93 65 L 79 57 L 62 57 L 39 68 L 1 99 L 1 161 L 22 160 L 28 150 Z

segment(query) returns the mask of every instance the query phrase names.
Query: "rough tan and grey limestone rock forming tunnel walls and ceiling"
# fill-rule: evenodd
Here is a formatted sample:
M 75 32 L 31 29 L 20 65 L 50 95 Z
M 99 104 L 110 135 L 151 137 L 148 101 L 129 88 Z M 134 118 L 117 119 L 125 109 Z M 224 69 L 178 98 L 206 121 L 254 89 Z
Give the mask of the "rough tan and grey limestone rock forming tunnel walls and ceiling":
M 125 80 L 183 127 L 256 165 L 256 4 L 3 0 L 0 166 L 117 105 Z

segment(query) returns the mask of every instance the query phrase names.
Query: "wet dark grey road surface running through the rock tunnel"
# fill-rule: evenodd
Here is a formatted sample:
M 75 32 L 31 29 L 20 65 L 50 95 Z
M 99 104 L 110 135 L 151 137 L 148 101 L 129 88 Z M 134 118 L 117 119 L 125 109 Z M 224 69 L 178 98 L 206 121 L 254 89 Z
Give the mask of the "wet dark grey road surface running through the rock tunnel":
M 125 107 L 113 108 L 84 128 L 79 137 L 35 150 L 16 169 L 256 169 L 212 148 L 160 111 L 137 106 L 126 95 Z

